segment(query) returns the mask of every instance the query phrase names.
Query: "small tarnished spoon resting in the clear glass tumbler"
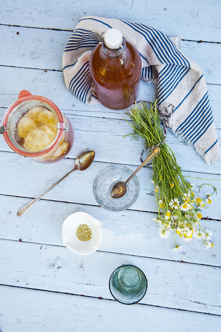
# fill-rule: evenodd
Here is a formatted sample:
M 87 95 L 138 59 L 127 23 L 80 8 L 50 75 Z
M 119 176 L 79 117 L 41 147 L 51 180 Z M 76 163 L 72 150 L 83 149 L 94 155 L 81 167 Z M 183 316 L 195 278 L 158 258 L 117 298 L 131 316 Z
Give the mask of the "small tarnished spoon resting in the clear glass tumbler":
M 130 179 L 144 166 L 146 165 L 150 160 L 152 160 L 154 157 L 156 157 L 158 154 L 160 153 L 160 148 L 158 146 L 156 146 L 155 148 L 153 148 L 153 150 L 148 154 L 148 156 L 146 157 L 146 159 L 142 162 L 142 164 L 136 169 L 135 172 L 133 172 L 133 174 L 131 174 L 131 176 L 125 181 L 125 182 L 117 182 L 115 183 L 115 185 L 113 185 L 112 189 L 111 189 L 111 197 L 112 198 L 121 198 L 123 197 L 126 192 L 127 192 L 127 182 L 130 181 Z

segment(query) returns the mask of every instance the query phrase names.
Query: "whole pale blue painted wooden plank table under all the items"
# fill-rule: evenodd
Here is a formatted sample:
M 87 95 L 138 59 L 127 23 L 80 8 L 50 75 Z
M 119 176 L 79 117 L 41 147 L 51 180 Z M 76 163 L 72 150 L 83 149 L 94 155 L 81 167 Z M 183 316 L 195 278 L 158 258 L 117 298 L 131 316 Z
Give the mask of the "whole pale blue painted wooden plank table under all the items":
M 43 165 L 12 152 L 0 135 L 0 330 L 220 331 L 221 163 L 207 167 L 195 150 L 168 134 L 184 174 L 206 179 L 195 180 L 196 185 L 206 181 L 218 189 L 202 221 L 214 234 L 214 247 L 204 250 L 193 239 L 182 243 L 181 252 L 173 252 L 173 236 L 159 238 L 152 221 L 157 209 L 151 168 L 138 173 L 140 195 L 130 209 L 114 213 L 98 207 L 92 193 L 97 173 L 112 163 L 134 170 L 143 142 L 122 137 L 130 132 L 123 111 L 86 106 L 66 89 L 62 73 L 65 43 L 84 15 L 121 18 L 168 36 L 182 35 L 184 54 L 204 72 L 220 142 L 220 2 L 2 0 L 1 12 L 0 120 L 20 90 L 27 89 L 48 97 L 67 114 L 75 142 L 68 158 Z M 148 100 L 154 92 L 155 86 L 142 83 L 139 97 Z M 24 216 L 16 216 L 88 148 L 96 151 L 91 168 L 74 173 Z M 102 245 L 89 256 L 75 255 L 62 244 L 62 223 L 76 211 L 88 212 L 103 224 Z M 108 287 L 111 272 L 126 263 L 141 268 L 148 279 L 147 294 L 132 306 L 114 301 Z

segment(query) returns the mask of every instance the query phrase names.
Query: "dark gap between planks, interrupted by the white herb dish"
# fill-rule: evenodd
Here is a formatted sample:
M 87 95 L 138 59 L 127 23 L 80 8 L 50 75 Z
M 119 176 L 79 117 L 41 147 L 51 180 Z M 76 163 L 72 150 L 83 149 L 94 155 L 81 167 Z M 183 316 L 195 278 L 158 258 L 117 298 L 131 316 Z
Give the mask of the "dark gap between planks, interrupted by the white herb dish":
M 13 240 L 13 239 L 3 239 L 0 238 L 0 240 L 6 240 L 6 241 L 14 241 L 14 242 L 24 242 L 24 243 L 33 243 L 33 244 L 40 244 L 40 245 L 46 245 L 46 246 L 52 246 L 52 247 L 60 247 L 64 248 L 65 246 L 61 246 L 58 244 L 50 244 L 50 243 L 39 243 L 39 242 L 31 242 L 31 241 L 23 241 L 22 239 L 19 240 Z M 116 255 L 124 255 L 124 256 L 132 256 L 132 257 L 141 257 L 141 258 L 150 258 L 150 259 L 156 259 L 161 261 L 169 261 L 169 262 L 176 262 L 176 263 L 185 263 L 185 264 L 194 264 L 194 265 L 203 265 L 203 266 L 210 266 L 215 268 L 221 268 L 221 266 L 218 265 L 210 265 L 210 264 L 202 264 L 202 263 L 192 263 L 192 262 L 185 262 L 183 260 L 174 260 L 174 259 L 166 259 L 166 258 L 157 258 L 157 257 L 148 257 L 148 256 L 140 256 L 140 255 L 132 255 L 132 254 L 124 254 L 120 252 L 112 252 L 112 251 L 104 251 L 104 250 L 96 250 L 97 252 L 101 253 L 107 253 L 107 254 L 116 254 Z

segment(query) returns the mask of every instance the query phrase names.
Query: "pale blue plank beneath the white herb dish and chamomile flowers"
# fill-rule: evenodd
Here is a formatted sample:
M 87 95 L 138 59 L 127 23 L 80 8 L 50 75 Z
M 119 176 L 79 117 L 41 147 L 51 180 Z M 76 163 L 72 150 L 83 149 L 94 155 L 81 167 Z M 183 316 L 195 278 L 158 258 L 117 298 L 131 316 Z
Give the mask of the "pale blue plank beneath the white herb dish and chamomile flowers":
M 181 251 L 174 252 L 173 233 L 165 240 L 159 237 L 158 226 L 152 220 L 156 216 L 154 213 L 132 210 L 108 213 L 101 207 L 41 200 L 18 218 L 17 211 L 30 199 L 1 195 L 0 202 L 4 207 L 0 229 L 0 238 L 3 239 L 63 246 L 63 221 L 71 213 L 84 211 L 102 222 L 100 251 L 220 266 L 217 254 L 221 252 L 219 221 L 201 221 L 203 229 L 209 228 L 213 232 L 213 248 L 204 250 L 201 241 L 193 238 L 185 243 L 177 236 L 177 243 L 183 247 Z

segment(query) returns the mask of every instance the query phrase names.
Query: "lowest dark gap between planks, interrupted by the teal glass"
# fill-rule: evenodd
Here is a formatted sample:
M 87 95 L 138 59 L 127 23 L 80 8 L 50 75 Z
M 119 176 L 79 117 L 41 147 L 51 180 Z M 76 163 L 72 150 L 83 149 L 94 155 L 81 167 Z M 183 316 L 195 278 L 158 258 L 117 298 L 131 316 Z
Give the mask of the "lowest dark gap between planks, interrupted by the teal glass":
M 91 296 L 91 295 L 83 295 L 83 294 L 74 294 L 74 293 L 67 293 L 67 292 L 61 292 L 61 291 L 54 291 L 54 290 L 42 290 L 42 289 L 38 289 L 38 288 L 29 288 L 29 287 L 22 287 L 22 286 L 14 286 L 14 285 L 5 285 L 5 284 L 0 284 L 0 286 L 6 286 L 6 287 L 16 287 L 16 288 L 22 288 L 22 289 L 28 289 L 28 290 L 37 290 L 37 291 L 46 291 L 46 292 L 50 292 L 50 293 L 60 293 L 60 294 L 65 294 L 65 295 L 72 295 L 72 296 L 84 296 L 84 297 L 92 297 L 92 298 L 97 298 L 97 299 L 101 299 L 101 300 L 108 300 L 108 301 L 115 301 L 112 298 L 105 298 L 105 297 L 101 297 L 101 296 Z M 199 314 L 206 314 L 206 315 L 213 315 L 213 316 L 221 316 L 221 315 L 217 315 L 217 314 L 213 314 L 213 313 L 209 313 L 209 312 L 199 312 L 199 311 L 193 311 L 193 310 L 186 310 L 186 309 L 179 309 L 179 308 L 171 308 L 171 307 L 164 307 L 161 305 L 153 305 L 153 304 L 146 304 L 146 303 L 136 303 L 139 305 L 148 305 L 150 307 L 158 307 L 158 308 L 165 308 L 165 309 L 173 309 L 173 310 L 179 310 L 179 311 L 188 311 L 188 312 L 196 312 Z

